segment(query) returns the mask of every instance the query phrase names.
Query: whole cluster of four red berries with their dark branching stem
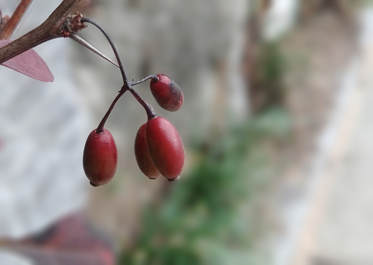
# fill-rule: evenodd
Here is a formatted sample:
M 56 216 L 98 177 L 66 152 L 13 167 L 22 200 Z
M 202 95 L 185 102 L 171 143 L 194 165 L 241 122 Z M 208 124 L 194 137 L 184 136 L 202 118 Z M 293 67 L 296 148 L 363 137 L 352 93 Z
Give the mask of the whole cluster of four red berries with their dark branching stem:
M 146 80 L 156 102 L 167 111 L 178 111 L 184 102 L 184 95 L 178 84 L 164 74 L 150 75 L 137 82 L 129 82 L 123 70 L 118 52 L 109 35 L 93 20 L 83 18 L 82 22 L 95 25 L 106 36 L 116 55 L 122 72 L 123 87 L 114 99 L 104 118 L 87 138 L 83 151 L 83 168 L 92 186 L 110 182 L 118 165 L 118 150 L 113 135 L 104 129 L 105 122 L 117 100 L 129 90 L 147 112 L 144 123 L 135 137 L 135 157 L 142 173 L 149 179 L 164 176 L 169 181 L 180 178 L 185 162 L 184 146 L 178 131 L 167 119 L 157 116 L 151 105 L 145 102 L 132 88 Z

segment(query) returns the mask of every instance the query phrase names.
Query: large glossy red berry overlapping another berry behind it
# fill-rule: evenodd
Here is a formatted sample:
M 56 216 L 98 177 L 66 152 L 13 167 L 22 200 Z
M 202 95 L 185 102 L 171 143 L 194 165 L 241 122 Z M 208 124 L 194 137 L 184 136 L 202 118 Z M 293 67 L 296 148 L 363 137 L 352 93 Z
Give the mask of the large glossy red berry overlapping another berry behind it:
M 167 179 L 180 176 L 185 162 L 185 151 L 180 135 L 167 119 L 156 116 L 145 128 L 151 161 Z

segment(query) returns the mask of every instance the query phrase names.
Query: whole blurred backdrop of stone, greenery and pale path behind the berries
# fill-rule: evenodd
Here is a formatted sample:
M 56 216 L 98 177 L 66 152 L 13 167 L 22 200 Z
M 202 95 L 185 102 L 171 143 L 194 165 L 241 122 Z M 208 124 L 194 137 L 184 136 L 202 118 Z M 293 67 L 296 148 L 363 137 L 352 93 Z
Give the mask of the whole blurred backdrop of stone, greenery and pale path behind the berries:
M 12 39 L 61 1 L 45 2 L 33 1 Z M 18 3 L 0 8 L 10 15 Z M 148 83 L 136 90 L 179 131 L 185 168 L 176 183 L 142 175 L 133 149 L 146 114 L 125 94 L 106 123 L 119 151 L 116 176 L 91 187 L 82 150 L 122 86 L 120 72 L 71 39 L 42 44 L 35 50 L 54 83 L 0 73 L 9 126 L 0 134 L 4 257 L 83 264 L 41 261 L 34 245 L 8 242 L 78 211 L 116 256 L 85 264 L 373 264 L 371 4 L 83 0 L 78 10 L 110 33 L 129 78 L 163 73 L 182 88 L 174 113 L 156 106 Z M 79 35 L 115 58 L 93 26 Z M 78 242 L 81 229 L 73 231 Z

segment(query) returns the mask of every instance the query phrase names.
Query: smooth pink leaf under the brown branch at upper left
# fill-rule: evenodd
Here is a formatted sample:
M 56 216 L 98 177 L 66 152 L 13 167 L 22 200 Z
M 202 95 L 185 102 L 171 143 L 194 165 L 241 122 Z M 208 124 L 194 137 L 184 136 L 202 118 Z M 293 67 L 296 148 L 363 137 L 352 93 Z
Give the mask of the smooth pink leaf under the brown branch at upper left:
M 12 41 L 0 40 L 0 48 Z M 1 65 L 43 82 L 53 82 L 54 77 L 46 62 L 34 50 L 28 50 Z

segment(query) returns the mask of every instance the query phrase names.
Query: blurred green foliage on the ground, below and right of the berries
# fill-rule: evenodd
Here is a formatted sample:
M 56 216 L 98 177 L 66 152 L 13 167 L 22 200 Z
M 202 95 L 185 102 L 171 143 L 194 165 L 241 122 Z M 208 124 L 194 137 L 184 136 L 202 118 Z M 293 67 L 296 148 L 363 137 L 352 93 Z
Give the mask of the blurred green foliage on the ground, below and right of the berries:
M 262 145 L 288 137 L 288 128 L 286 113 L 271 109 L 220 137 L 195 138 L 194 167 L 144 209 L 137 239 L 119 264 L 260 264 L 250 254 L 260 230 L 250 198 L 273 178 Z

